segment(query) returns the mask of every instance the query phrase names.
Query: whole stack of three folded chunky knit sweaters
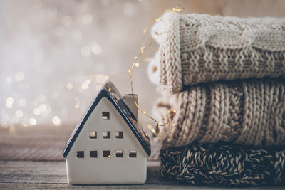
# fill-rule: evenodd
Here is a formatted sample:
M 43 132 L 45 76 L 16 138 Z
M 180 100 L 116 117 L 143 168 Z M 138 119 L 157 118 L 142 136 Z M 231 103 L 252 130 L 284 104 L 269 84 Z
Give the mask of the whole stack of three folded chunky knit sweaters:
M 148 73 L 161 93 L 154 114 L 171 122 L 159 129 L 161 175 L 285 183 L 285 19 L 167 13 L 160 33 Z

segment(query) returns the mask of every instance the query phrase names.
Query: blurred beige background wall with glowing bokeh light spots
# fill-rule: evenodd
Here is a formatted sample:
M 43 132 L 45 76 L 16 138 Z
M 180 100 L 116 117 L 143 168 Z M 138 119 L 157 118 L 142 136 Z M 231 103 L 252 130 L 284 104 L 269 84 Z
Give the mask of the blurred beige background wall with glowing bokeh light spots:
M 182 4 L 185 13 L 285 16 L 285 1 L 0 3 L 0 125 L 11 132 L 16 127 L 76 125 L 106 80 L 130 93 L 128 69 L 139 52 L 142 30 L 165 9 Z M 134 70 L 134 90 L 140 106 L 150 112 L 157 93 L 146 68 L 143 63 Z

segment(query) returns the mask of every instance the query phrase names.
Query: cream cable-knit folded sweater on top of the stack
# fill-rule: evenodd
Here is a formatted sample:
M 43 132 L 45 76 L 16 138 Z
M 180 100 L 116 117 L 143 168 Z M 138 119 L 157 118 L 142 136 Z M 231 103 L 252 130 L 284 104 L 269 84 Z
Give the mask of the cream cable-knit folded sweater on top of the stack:
M 216 80 L 285 76 L 285 19 L 173 14 L 152 28 L 171 93 Z

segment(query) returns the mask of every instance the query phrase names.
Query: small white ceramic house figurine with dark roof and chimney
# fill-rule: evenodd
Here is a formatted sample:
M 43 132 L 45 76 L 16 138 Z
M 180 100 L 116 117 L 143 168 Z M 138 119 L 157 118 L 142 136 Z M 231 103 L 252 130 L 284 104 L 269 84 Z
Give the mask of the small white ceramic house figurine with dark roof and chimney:
M 137 115 L 133 96 L 106 83 L 64 149 L 68 183 L 145 183 L 150 139 Z

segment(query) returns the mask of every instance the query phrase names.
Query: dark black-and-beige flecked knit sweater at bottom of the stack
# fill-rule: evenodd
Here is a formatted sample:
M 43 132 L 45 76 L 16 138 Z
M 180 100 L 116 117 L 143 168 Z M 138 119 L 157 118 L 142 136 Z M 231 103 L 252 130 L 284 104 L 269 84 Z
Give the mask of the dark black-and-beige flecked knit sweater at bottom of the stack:
M 285 183 L 285 147 L 190 144 L 162 148 L 160 174 L 189 184 L 259 186 Z

